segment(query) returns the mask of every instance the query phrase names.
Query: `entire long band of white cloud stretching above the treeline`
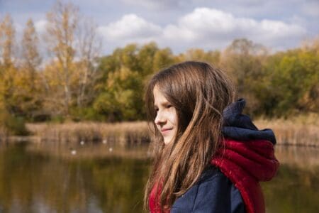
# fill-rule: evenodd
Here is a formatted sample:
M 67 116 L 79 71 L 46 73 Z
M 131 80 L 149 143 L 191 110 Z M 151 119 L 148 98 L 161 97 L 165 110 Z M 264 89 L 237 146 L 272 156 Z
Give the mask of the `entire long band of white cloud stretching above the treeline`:
M 248 38 L 270 48 L 285 49 L 298 45 L 307 33 L 296 23 L 238 18 L 232 13 L 209 8 L 194 9 L 181 16 L 177 23 L 164 27 L 129 14 L 108 26 L 100 26 L 98 32 L 111 45 L 155 40 L 160 46 L 169 46 L 177 52 L 188 48 L 225 48 L 235 38 Z

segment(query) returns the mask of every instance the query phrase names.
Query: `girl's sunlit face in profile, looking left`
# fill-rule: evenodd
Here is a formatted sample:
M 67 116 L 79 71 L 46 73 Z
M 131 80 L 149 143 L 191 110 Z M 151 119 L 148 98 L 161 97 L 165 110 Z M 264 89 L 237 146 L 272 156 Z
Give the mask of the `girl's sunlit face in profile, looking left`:
M 174 140 L 177 134 L 177 111 L 175 107 L 167 101 L 157 85 L 155 85 L 153 89 L 153 95 L 154 107 L 157 111 L 154 122 L 157 129 L 162 133 L 165 145 L 167 145 Z

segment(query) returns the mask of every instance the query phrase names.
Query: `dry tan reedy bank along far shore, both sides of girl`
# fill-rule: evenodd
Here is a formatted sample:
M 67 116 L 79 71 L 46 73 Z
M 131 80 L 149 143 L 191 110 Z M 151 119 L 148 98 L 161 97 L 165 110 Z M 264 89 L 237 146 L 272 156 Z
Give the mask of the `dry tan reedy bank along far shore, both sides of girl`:
M 296 116 L 285 119 L 256 119 L 258 129 L 273 129 L 279 145 L 319 146 L 319 116 Z M 150 130 L 146 121 L 106 124 L 98 122 L 65 124 L 27 124 L 29 137 L 9 137 L 9 141 L 59 141 L 60 143 L 150 143 Z

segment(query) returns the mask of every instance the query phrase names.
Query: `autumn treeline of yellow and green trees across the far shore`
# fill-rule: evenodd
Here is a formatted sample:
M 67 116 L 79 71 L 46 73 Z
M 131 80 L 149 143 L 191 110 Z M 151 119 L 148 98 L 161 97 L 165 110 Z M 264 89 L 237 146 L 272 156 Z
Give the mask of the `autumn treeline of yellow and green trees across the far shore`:
M 278 53 L 241 38 L 225 50 L 174 55 L 169 48 L 147 43 L 102 56 L 95 32 L 93 21 L 60 1 L 47 13 L 40 35 L 30 19 L 17 40 L 12 18 L 0 19 L 2 126 L 22 120 L 145 119 L 145 83 L 163 67 L 184 60 L 206 61 L 228 72 L 237 97 L 247 99 L 246 112 L 253 116 L 319 111 L 319 38 Z

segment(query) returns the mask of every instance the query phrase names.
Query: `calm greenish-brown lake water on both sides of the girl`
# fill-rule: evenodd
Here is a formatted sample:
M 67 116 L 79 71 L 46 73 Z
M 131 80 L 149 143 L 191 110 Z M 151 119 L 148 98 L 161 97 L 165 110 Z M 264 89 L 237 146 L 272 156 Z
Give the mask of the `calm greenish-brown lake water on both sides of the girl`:
M 277 146 L 267 212 L 319 212 L 319 148 Z M 0 143 L 0 212 L 142 212 L 145 146 Z

